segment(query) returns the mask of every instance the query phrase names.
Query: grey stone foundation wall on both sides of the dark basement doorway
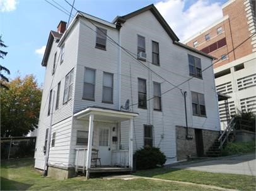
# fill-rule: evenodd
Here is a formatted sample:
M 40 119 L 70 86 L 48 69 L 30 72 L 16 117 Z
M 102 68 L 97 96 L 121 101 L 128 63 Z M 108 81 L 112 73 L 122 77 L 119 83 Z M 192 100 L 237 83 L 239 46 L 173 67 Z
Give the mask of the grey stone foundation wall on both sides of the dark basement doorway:
M 195 129 L 188 128 L 188 135 L 192 139 L 186 138 L 187 128 L 183 126 L 176 126 L 176 147 L 177 147 L 177 160 L 185 160 L 190 157 L 197 157 L 197 148 L 195 145 Z M 202 129 L 202 141 L 204 145 L 204 154 L 212 146 L 216 138 L 219 137 L 219 131 L 211 131 Z

